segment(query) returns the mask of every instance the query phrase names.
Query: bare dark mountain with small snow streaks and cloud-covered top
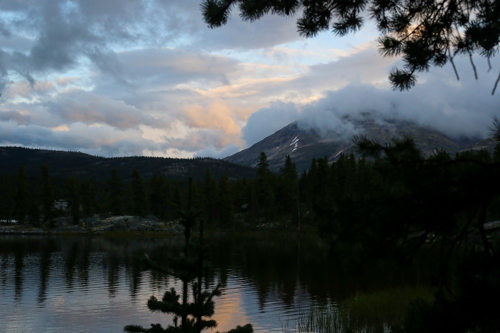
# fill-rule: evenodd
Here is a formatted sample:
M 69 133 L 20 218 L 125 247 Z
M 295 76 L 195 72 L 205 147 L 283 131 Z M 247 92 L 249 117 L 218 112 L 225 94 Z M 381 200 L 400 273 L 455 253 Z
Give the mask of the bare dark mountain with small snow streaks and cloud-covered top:
M 403 136 L 412 137 L 416 146 L 429 155 L 437 149 L 444 149 L 454 153 L 467 145 L 466 149 L 480 147 L 492 151 L 494 140 L 486 139 L 475 145 L 470 141 L 457 141 L 431 127 L 421 126 L 414 122 L 394 119 L 378 119 L 369 113 L 363 113 L 356 118 L 343 119 L 344 125 L 351 128 L 350 134 L 339 133 L 338 130 L 320 130 L 308 124 L 294 121 L 274 134 L 267 136 L 249 148 L 243 149 L 231 156 L 223 158 L 226 161 L 242 165 L 255 166 L 258 155 L 264 151 L 272 170 L 278 170 L 284 164 L 286 155 L 290 155 L 298 172 L 310 166 L 313 157 L 327 156 L 334 161 L 341 152 L 356 154 L 356 145 L 352 138 L 354 134 L 366 135 L 378 143 L 389 143 L 391 138 Z

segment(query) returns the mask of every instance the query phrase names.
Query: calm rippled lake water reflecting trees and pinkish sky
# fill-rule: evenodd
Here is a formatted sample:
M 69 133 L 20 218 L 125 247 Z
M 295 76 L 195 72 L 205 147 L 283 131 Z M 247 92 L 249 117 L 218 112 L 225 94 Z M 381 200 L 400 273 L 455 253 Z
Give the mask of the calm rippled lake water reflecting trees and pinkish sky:
M 222 283 L 215 302 L 217 330 L 250 322 L 256 332 L 293 326 L 311 302 L 334 303 L 356 291 L 417 283 L 425 269 L 365 265 L 356 272 L 333 263 L 319 241 L 207 237 Z M 145 269 L 181 251 L 183 238 L 0 236 L 0 332 L 120 332 L 125 324 L 163 326 L 171 318 L 147 309 L 173 278 Z

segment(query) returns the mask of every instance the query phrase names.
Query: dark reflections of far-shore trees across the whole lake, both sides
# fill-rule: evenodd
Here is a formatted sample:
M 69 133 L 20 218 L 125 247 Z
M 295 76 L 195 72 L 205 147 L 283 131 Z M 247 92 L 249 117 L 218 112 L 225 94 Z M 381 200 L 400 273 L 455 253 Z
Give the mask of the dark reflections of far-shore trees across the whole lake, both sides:
M 425 269 L 398 269 L 397 263 L 370 262 L 353 270 L 342 260 L 332 260 L 327 246 L 308 239 L 301 240 L 300 247 L 296 239 L 211 237 L 208 242 L 213 244 L 210 260 L 214 269 L 208 272 L 206 287 L 218 281 L 224 287 L 234 277 L 242 279 L 255 290 L 253 301 L 260 311 L 265 311 L 270 301 L 290 308 L 295 301 L 302 300 L 303 304 L 303 297 L 328 302 L 356 291 L 424 283 L 432 269 L 427 264 Z M 92 269 L 98 269 L 101 285 L 107 288 L 109 297 L 120 292 L 120 285 L 125 282 L 130 297 L 135 299 L 142 285 L 159 290 L 165 288 L 165 281 L 172 283 L 171 278 L 157 271 L 147 272 L 145 278 L 146 270 L 135 257 L 147 253 L 163 263 L 166 257 L 178 255 L 182 245 L 182 238 L 168 237 L 4 237 L 0 242 L 0 281 L 2 285 L 11 283 L 14 299 L 19 301 L 26 283 L 31 282 L 25 273 L 34 269 L 39 274 L 37 302 L 41 304 L 50 295 L 50 285 L 59 283 L 70 291 L 75 285 L 88 285 Z M 32 252 L 38 253 L 39 261 L 34 267 L 26 267 L 32 264 L 25 259 Z M 59 276 L 62 280 L 55 281 Z

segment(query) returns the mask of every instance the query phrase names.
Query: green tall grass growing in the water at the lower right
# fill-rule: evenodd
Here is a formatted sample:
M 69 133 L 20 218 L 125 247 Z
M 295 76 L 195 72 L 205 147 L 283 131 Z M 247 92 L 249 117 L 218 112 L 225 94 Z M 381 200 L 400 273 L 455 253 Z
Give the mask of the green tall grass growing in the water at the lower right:
M 433 300 L 434 289 L 427 286 L 400 286 L 361 292 L 339 303 L 313 304 L 300 311 L 293 328 L 281 325 L 283 333 L 389 332 L 401 323 L 411 300 Z

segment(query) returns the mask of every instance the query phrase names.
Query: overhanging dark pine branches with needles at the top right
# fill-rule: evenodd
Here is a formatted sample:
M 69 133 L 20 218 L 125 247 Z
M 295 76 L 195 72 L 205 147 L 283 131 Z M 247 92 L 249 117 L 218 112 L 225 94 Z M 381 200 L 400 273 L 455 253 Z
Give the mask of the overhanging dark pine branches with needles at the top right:
M 497 0 L 202 0 L 201 11 L 209 27 L 224 25 L 237 6 L 245 21 L 272 13 L 297 18 L 300 35 L 314 37 L 331 29 L 336 35 L 359 30 L 366 17 L 380 32 L 383 56 L 400 55 L 402 68 L 393 68 L 389 80 L 394 89 L 405 90 L 416 83 L 416 73 L 430 66 L 453 63 L 457 55 L 472 54 L 489 60 L 499 50 L 500 1 Z M 491 65 L 489 65 L 491 69 Z M 494 93 L 498 76 L 492 94 Z

